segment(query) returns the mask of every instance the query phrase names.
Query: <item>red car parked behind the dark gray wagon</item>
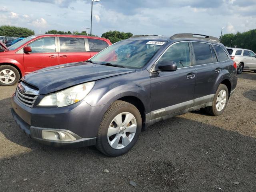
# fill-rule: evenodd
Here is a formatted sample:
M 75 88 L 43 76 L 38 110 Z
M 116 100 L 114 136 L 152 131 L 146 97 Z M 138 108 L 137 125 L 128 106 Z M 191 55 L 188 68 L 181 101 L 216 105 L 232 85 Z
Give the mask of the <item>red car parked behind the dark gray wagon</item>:
M 0 85 L 16 84 L 25 74 L 41 68 L 88 60 L 109 45 L 108 39 L 91 36 L 29 36 L 0 53 Z

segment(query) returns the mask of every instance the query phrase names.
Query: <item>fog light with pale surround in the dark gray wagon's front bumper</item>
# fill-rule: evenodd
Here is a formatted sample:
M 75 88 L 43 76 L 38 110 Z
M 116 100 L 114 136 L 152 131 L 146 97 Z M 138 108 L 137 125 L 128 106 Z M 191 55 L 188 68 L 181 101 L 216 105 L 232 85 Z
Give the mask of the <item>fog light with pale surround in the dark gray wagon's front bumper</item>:
M 76 138 L 66 131 L 42 130 L 42 138 L 53 141 L 75 141 Z

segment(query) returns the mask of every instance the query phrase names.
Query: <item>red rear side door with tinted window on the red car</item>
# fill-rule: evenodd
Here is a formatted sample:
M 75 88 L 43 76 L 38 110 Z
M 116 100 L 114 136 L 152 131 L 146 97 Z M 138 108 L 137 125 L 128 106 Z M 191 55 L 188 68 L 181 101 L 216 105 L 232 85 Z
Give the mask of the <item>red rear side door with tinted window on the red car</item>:
M 86 38 L 58 37 L 59 63 L 66 64 L 88 60 L 91 55 Z

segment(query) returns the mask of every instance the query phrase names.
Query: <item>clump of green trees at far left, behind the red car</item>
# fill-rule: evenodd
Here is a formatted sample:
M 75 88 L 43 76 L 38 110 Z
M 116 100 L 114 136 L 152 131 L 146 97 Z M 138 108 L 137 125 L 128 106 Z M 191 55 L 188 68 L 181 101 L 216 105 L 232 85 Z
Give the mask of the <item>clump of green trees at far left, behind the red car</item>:
M 15 27 L 9 25 L 0 26 L 0 36 L 28 37 L 34 34 L 35 32 L 33 30 L 24 27 Z

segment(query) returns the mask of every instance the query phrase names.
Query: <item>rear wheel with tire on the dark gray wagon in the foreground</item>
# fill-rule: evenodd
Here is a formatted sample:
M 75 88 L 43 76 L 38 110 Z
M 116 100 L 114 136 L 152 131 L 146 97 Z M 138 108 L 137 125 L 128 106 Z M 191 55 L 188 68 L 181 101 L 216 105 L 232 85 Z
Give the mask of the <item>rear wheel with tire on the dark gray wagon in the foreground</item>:
M 222 102 L 224 102 L 224 100 L 220 99 L 222 97 L 219 97 L 219 94 L 222 91 L 226 92 L 226 100 L 225 100 L 224 106 L 223 105 L 218 105 L 218 103 L 222 104 Z M 217 99 L 219 100 L 218 102 L 217 102 Z M 227 106 L 227 103 L 228 103 L 228 88 L 227 88 L 226 85 L 220 84 L 218 89 L 217 89 L 217 91 L 216 91 L 216 94 L 215 94 L 215 96 L 213 98 L 212 106 L 206 107 L 205 110 L 206 110 L 206 112 L 208 114 L 210 114 L 212 116 L 219 116 L 219 115 L 221 115 L 224 112 L 224 110 L 225 110 L 225 108 Z M 217 106 L 218 106 L 218 108 L 217 108 Z M 223 108 L 222 108 L 222 106 L 223 106 Z

